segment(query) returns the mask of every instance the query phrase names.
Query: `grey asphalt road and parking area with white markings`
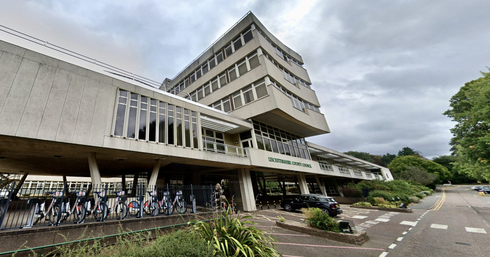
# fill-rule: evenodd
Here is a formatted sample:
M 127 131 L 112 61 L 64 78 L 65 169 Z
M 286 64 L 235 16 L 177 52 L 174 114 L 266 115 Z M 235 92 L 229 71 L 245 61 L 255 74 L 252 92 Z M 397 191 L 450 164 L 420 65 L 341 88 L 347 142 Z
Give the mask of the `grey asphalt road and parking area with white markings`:
M 411 206 L 413 213 L 343 205 L 344 213 L 339 218 L 353 220 L 357 229 L 368 232 L 369 241 L 362 246 L 275 226 L 278 216 L 303 222 L 299 211 L 261 210 L 253 219 L 257 228 L 275 236 L 279 252 L 285 257 L 489 256 L 490 197 L 479 196 L 467 188 L 445 187 Z

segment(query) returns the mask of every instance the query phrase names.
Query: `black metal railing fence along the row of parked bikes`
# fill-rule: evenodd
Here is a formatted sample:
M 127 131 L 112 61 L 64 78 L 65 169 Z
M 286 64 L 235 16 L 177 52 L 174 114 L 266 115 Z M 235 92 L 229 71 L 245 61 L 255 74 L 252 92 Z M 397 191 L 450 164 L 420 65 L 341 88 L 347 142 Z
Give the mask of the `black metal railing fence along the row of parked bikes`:
M 212 211 L 212 186 L 0 188 L 0 230 Z

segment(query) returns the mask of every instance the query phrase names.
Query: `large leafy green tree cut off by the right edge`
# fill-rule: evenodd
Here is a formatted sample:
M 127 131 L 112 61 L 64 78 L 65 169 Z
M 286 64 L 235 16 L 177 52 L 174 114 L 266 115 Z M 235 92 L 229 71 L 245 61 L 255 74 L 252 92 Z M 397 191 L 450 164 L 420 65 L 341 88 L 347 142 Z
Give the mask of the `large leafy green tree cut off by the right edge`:
M 482 75 L 451 97 L 451 109 L 444 115 L 457 123 L 450 130 L 455 166 L 472 178 L 490 181 L 490 72 Z

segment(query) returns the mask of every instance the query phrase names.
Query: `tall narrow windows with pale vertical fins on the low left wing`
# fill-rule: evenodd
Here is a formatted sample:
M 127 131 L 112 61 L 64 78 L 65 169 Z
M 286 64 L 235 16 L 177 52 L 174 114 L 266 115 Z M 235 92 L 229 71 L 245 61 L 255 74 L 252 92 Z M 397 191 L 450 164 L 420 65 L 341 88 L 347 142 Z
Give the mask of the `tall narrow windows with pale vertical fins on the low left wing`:
M 114 135 L 199 148 L 197 113 L 120 90 Z

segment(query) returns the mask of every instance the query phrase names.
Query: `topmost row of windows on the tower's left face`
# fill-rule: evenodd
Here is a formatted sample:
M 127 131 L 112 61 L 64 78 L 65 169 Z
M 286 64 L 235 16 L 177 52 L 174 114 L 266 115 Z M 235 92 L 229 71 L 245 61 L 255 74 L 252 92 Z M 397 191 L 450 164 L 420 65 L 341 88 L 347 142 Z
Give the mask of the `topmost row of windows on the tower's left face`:
M 169 90 L 170 93 L 177 94 L 180 91 L 187 88 L 190 84 L 200 78 L 202 75 L 206 74 L 209 70 L 213 69 L 216 65 L 221 63 L 225 58 L 228 58 L 232 53 L 234 53 L 238 48 L 245 45 L 248 41 L 253 39 L 252 28 L 248 27 L 244 32 L 240 33 L 235 39 L 230 41 L 225 47 L 214 54 L 209 60 L 205 61 L 199 68 L 194 70 L 189 76 L 180 81 L 172 89 Z

